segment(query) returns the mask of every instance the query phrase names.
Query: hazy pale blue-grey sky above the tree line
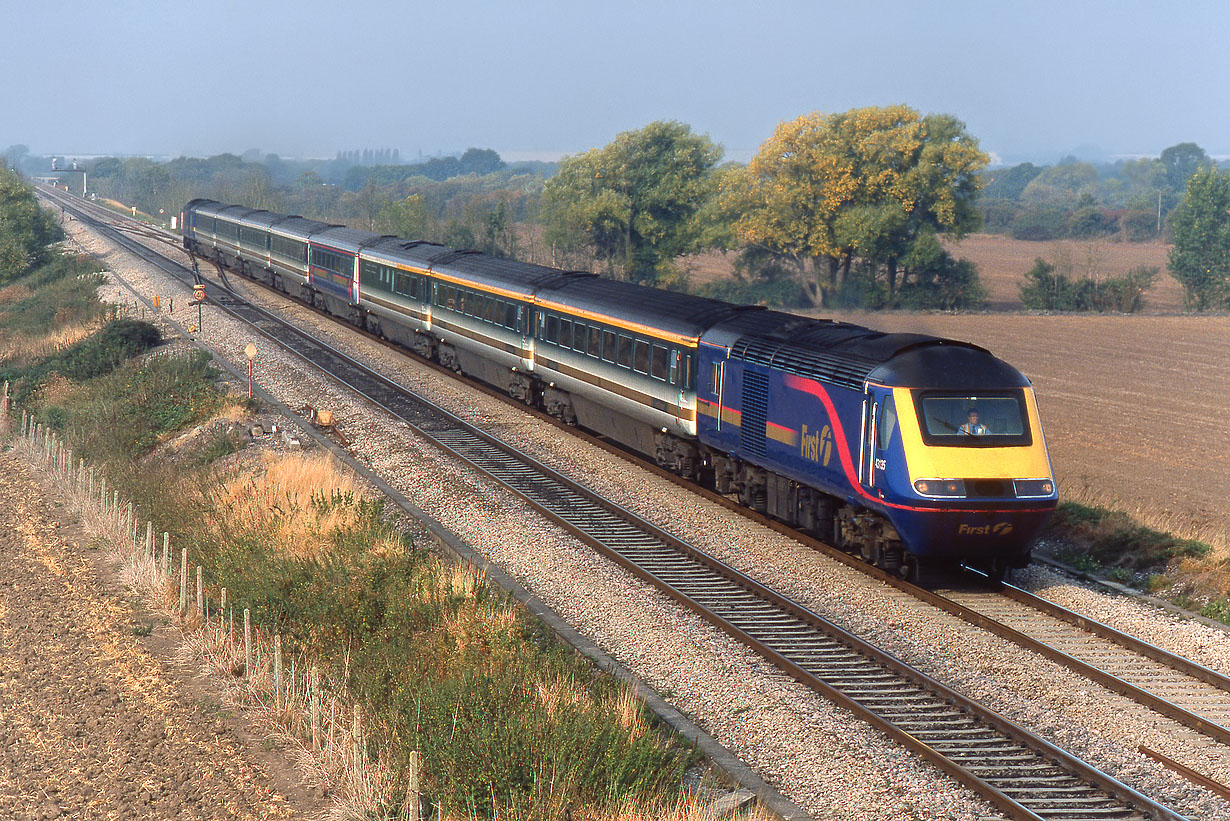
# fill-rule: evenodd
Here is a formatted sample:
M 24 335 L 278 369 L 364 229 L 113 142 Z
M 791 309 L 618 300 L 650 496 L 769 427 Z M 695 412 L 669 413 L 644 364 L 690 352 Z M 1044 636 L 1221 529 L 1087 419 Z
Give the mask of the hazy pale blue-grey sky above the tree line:
M 1224 0 L 0 2 L 0 149 L 552 159 L 678 119 L 747 160 L 904 102 L 1009 161 L 1230 154 Z

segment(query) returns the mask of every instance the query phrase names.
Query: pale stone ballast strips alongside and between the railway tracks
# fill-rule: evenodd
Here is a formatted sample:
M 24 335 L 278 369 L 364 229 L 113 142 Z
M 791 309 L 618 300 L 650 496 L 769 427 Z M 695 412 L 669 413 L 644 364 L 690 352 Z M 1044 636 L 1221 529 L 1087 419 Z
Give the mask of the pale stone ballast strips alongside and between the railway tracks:
M 71 225 L 70 225 L 71 226 Z M 91 250 L 146 294 L 186 292 L 156 272 Z M 1151 798 L 1200 819 L 1230 819 L 1230 805 L 1191 787 L 1137 752 L 1145 743 L 1220 780 L 1230 759 L 1220 747 L 1032 654 L 1006 646 L 964 622 L 920 613 L 904 595 L 824 559 L 786 537 L 704 502 L 627 462 L 598 451 L 497 400 L 443 378 L 346 329 L 231 277 L 258 302 L 300 318 L 358 358 L 470 421 L 707 549 L 1001 710 Z M 125 297 L 130 300 L 130 297 Z M 208 308 L 207 308 L 208 313 Z M 252 334 L 207 316 L 205 340 L 235 362 Z M 994 816 L 968 791 L 784 678 L 765 662 L 664 597 L 595 558 L 518 500 L 440 455 L 401 422 L 257 341 L 257 379 L 292 406 L 335 412 L 359 458 L 401 492 L 501 564 L 608 652 L 627 665 L 784 794 L 818 817 L 975 819 Z M 1090 596 L 1097 596 L 1089 593 Z M 1124 602 L 1097 596 L 1114 609 Z M 1112 620 L 1107 617 L 1106 620 Z M 1230 668 L 1226 634 L 1151 612 L 1143 638 L 1162 646 L 1200 646 L 1202 663 Z M 1160 625 L 1156 627 L 1155 625 Z

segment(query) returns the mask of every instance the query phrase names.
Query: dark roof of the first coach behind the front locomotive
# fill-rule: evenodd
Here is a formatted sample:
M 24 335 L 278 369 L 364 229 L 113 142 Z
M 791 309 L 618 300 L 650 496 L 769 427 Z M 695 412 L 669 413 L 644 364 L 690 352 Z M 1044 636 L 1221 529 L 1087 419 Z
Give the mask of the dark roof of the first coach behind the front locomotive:
M 737 311 L 737 305 L 674 290 L 594 276 L 573 276 L 551 283 L 538 294 L 547 308 L 629 324 L 695 342 L 706 327 Z

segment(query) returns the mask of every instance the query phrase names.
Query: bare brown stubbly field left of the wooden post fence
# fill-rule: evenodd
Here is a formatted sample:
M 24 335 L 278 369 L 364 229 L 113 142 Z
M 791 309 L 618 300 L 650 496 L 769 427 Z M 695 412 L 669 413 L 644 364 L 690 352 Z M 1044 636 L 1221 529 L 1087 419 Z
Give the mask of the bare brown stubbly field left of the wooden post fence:
M 172 667 L 111 560 L 0 454 L 0 817 L 288 819 L 314 812 L 220 693 Z

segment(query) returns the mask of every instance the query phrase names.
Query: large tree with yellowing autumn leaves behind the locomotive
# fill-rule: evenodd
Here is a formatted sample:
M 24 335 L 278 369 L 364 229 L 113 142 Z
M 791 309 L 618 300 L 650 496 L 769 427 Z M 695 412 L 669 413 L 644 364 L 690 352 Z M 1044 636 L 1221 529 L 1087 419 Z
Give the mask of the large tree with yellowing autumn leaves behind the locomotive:
M 781 123 L 726 194 L 742 213 L 739 235 L 790 257 L 814 304 L 828 304 L 856 258 L 872 281 L 884 277 L 892 299 L 903 261 L 934 261 L 938 234 L 979 226 L 986 161 L 948 114 L 817 112 Z

